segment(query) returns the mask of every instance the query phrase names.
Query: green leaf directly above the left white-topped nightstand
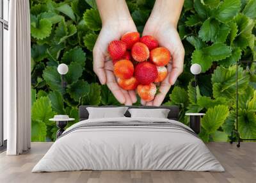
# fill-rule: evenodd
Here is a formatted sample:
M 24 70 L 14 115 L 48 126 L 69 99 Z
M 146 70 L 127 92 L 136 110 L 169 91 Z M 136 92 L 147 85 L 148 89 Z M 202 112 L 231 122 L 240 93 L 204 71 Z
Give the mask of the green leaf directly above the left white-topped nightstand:
M 57 91 L 50 92 L 48 97 L 51 100 L 52 109 L 59 115 L 66 115 L 61 93 Z

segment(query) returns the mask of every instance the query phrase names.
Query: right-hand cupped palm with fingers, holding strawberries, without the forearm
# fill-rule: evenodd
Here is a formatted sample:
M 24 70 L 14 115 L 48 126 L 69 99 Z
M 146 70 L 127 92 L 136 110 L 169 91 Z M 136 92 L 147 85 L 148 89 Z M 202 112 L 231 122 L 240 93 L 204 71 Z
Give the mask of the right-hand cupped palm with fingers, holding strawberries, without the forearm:
M 172 54 L 172 59 L 168 64 L 168 76 L 159 87 L 159 92 L 157 93 L 154 100 L 150 102 L 145 102 L 141 100 L 141 104 L 147 106 L 160 106 L 166 96 L 166 93 L 170 90 L 171 86 L 177 80 L 177 77 L 183 71 L 184 63 L 184 47 L 180 40 L 179 33 L 177 32 L 176 26 L 171 23 L 163 23 L 159 20 L 148 19 L 147 24 L 143 30 L 143 35 L 154 36 L 159 42 L 159 46 L 166 47 Z

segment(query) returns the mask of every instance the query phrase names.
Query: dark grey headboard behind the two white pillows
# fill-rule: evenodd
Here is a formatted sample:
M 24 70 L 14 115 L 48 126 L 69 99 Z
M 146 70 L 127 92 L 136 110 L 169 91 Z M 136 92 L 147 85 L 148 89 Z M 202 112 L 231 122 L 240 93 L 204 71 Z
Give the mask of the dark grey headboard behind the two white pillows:
M 120 106 L 79 106 L 79 121 L 87 120 L 89 113 L 86 107 L 120 107 Z M 141 108 L 141 109 L 170 109 L 168 119 L 179 120 L 179 107 L 178 106 L 126 106 L 129 108 Z M 130 117 L 129 111 L 125 113 L 126 117 Z

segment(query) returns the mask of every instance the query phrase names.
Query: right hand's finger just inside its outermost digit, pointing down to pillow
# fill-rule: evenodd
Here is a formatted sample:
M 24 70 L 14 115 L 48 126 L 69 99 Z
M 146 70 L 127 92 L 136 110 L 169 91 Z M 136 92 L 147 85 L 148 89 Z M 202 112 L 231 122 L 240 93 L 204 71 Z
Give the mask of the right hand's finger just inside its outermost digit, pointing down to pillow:
M 161 83 L 159 93 L 157 93 L 154 99 L 154 106 L 161 106 L 166 94 L 169 92 L 172 85 L 168 82 L 168 79 L 169 77 L 166 77 L 164 81 Z

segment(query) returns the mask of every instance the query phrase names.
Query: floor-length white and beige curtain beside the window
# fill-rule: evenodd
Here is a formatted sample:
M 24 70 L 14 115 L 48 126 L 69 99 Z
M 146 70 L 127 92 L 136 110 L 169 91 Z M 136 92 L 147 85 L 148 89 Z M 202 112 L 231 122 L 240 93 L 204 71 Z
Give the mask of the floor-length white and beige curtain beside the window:
M 4 62 L 4 120 L 8 155 L 21 154 L 31 142 L 29 0 L 11 0 L 9 60 Z

